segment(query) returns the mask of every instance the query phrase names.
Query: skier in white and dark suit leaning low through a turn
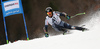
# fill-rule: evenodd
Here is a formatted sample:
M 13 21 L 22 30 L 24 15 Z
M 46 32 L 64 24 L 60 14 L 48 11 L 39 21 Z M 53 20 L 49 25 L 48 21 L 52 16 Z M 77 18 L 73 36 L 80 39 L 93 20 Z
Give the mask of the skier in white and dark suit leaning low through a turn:
M 68 16 L 64 12 L 53 11 L 51 7 L 47 7 L 45 11 L 47 14 L 45 19 L 45 27 L 44 27 L 45 37 L 49 36 L 48 24 L 50 24 L 52 28 L 54 28 L 56 31 L 63 31 L 64 32 L 63 35 L 67 33 L 66 29 L 72 29 L 72 30 L 74 29 L 74 30 L 81 30 L 81 31 L 86 30 L 86 28 L 72 26 L 62 21 L 59 16 L 64 16 L 68 20 L 71 18 L 71 16 Z

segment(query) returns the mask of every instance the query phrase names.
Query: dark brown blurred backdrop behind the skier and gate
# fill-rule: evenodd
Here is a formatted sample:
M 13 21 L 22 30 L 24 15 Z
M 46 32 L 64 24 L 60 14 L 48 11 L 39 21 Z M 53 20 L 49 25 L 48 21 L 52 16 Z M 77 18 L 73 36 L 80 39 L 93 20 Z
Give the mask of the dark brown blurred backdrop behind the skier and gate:
M 70 16 L 82 12 L 86 12 L 86 15 L 88 15 L 88 13 L 95 12 L 100 8 L 100 0 L 22 0 L 22 4 L 30 40 L 44 37 L 43 27 L 46 17 L 45 8 L 48 6 L 52 7 L 54 11 L 66 12 Z M 6 37 L 1 5 L 0 11 L 0 45 L 2 45 L 6 44 Z M 71 25 L 79 25 L 82 23 L 81 20 L 83 18 L 87 18 L 87 16 L 77 16 L 70 20 L 61 17 L 63 21 Z M 22 14 L 6 17 L 6 25 L 9 41 L 15 42 L 17 40 L 26 40 Z M 48 33 L 51 35 L 61 34 L 54 31 L 51 26 L 49 26 L 48 29 Z

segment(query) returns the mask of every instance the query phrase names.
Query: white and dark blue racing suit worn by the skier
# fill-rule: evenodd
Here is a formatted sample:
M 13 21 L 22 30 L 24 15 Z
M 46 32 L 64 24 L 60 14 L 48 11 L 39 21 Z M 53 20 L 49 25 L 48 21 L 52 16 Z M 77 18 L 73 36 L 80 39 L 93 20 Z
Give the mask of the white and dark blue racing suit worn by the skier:
M 70 16 L 65 16 L 65 14 L 57 11 L 53 11 L 53 16 L 49 17 L 46 16 L 45 19 L 45 31 L 48 32 L 48 24 L 52 26 L 56 31 L 64 31 L 63 28 L 65 29 L 76 29 L 76 30 L 82 30 L 82 27 L 77 27 L 77 26 L 71 26 L 68 23 L 65 23 L 60 19 L 59 16 L 64 16 L 66 18 L 70 18 Z

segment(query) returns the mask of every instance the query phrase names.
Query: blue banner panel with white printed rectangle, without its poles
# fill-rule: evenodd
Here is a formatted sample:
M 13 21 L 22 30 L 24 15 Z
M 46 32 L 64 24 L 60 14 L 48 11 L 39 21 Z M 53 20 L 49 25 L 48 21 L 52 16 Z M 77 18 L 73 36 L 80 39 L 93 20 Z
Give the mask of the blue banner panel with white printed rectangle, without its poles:
M 3 16 L 23 13 L 21 0 L 9 0 L 2 2 Z

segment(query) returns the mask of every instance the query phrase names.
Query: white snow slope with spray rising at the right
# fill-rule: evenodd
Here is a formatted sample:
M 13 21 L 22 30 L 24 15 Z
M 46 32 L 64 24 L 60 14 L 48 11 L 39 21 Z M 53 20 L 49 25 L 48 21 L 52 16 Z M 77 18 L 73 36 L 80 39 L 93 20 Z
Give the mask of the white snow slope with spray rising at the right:
M 0 49 L 100 49 L 100 11 L 87 21 L 89 31 L 73 30 L 72 34 L 37 38 L 29 41 L 17 41 L 1 45 Z M 94 18 L 95 17 L 95 18 Z M 95 24 L 94 24 L 95 23 Z

